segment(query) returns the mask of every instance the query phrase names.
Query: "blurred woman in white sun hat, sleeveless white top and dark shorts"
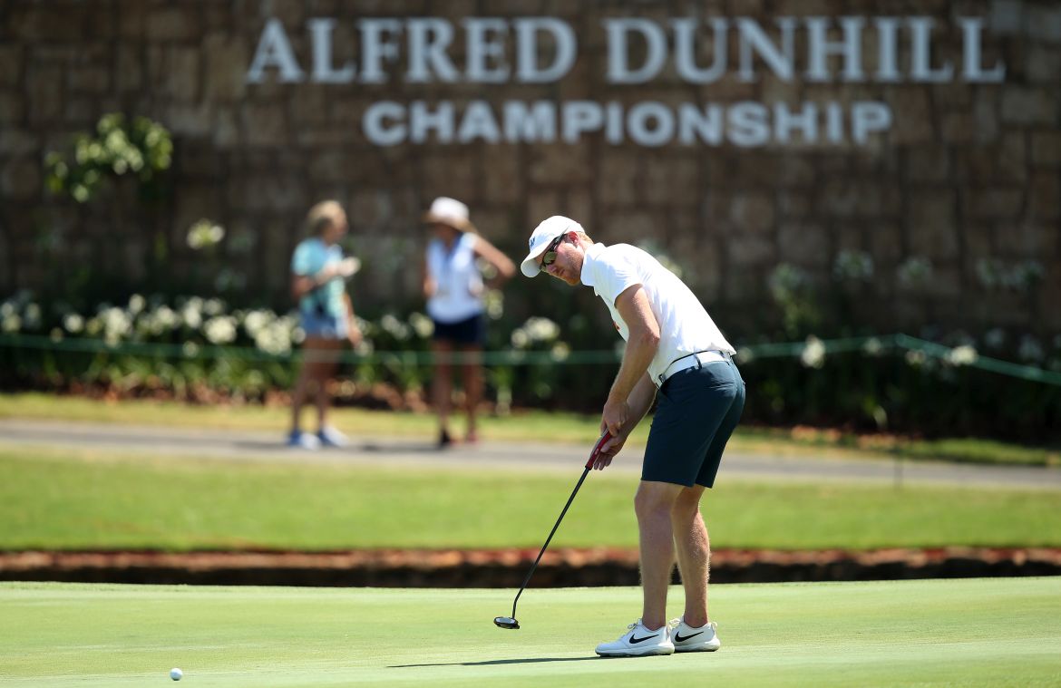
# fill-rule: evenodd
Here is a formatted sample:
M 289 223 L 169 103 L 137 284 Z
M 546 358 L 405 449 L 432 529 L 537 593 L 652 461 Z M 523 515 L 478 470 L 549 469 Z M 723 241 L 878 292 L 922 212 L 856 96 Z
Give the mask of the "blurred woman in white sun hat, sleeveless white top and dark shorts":
M 477 440 L 475 407 L 483 396 L 482 351 L 486 339 L 483 295 L 516 274 L 516 265 L 475 230 L 468 218 L 468 206 L 445 196 L 435 198 L 423 216 L 432 239 L 423 260 L 423 296 L 428 315 L 435 325 L 432 352 L 435 376 L 432 398 L 438 413 L 438 445 L 449 446 L 452 394 L 452 364 L 460 360 L 464 372 L 465 409 L 468 414 L 467 441 Z M 479 260 L 492 266 L 497 275 L 484 284 Z M 454 352 L 462 354 L 454 357 Z

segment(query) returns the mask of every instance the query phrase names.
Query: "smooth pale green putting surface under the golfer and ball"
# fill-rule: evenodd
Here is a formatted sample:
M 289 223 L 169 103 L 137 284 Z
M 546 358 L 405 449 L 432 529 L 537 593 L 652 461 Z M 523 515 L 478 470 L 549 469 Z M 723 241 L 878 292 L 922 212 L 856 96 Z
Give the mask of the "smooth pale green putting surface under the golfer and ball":
M 721 651 L 599 659 L 637 588 L 0 584 L 4 686 L 1061 684 L 1061 578 L 717 585 Z M 680 612 L 681 589 L 669 608 Z

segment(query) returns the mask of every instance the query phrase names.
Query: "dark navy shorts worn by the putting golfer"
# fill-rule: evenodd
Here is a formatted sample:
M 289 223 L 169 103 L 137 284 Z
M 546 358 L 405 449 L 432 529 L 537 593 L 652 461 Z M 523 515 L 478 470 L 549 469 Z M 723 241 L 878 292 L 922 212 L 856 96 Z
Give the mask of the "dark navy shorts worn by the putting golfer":
M 712 487 L 744 394 L 741 371 L 729 357 L 668 377 L 659 390 L 641 479 Z

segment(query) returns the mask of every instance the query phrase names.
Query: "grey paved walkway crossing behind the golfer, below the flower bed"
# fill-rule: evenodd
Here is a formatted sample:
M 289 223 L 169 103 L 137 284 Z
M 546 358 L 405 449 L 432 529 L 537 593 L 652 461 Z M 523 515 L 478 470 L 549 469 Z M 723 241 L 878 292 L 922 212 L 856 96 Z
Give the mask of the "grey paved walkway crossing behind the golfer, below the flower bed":
M 527 442 L 482 442 L 439 452 L 433 444 L 394 438 L 356 439 L 343 449 L 307 452 L 282 444 L 282 433 L 198 430 L 0 419 L 0 446 L 49 446 L 111 449 L 156 456 L 228 460 L 320 461 L 346 463 L 454 465 L 488 469 L 569 468 L 577 475 L 589 446 Z M 609 472 L 637 473 L 640 452 L 620 454 Z M 1026 488 L 1061 491 L 1061 469 L 976 465 L 941 461 L 876 458 L 822 458 L 729 452 L 719 482 L 727 480 L 848 480 L 904 484 L 962 484 L 976 488 Z

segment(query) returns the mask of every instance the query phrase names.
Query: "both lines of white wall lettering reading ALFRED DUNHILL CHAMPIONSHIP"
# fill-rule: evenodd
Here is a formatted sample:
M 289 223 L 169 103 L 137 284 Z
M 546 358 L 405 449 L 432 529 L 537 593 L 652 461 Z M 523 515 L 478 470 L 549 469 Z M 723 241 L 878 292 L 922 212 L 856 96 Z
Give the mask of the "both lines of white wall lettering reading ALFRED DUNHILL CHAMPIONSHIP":
M 763 74 L 792 83 L 1001 83 L 1006 65 L 985 56 L 986 22 L 956 17 L 946 31 L 926 16 L 676 17 L 653 20 L 606 17 L 601 78 L 618 86 L 649 84 L 660 74 L 708 86 L 730 76 L 744 83 Z M 306 21 L 305 40 L 291 40 L 279 19 L 268 19 L 246 81 L 354 84 L 553 84 L 578 59 L 578 34 L 556 17 L 363 18 L 349 35 L 330 17 Z M 960 40 L 960 57 L 934 51 L 940 35 Z M 352 38 L 353 40 L 347 40 Z M 298 46 L 299 55 L 293 46 Z M 950 46 L 947 46 L 950 48 Z M 875 51 L 868 63 L 865 50 Z M 989 53 L 990 55 L 990 53 Z M 303 60 L 300 63 L 300 59 Z M 960 60 L 960 64 L 958 64 Z M 308 66 L 303 70 L 302 65 Z M 593 63 L 590 63 L 593 64 Z M 581 74 L 580 74 L 581 76 Z M 659 85 L 657 85 L 659 86 Z M 662 88 L 671 88 L 665 84 Z M 658 89 L 657 89 L 658 92 Z M 887 134 L 893 113 L 884 102 L 674 103 L 593 100 L 395 100 L 368 105 L 362 129 L 376 145 L 424 143 L 575 143 L 602 136 L 610 144 L 643 146 L 865 145 Z M 692 99 L 694 101 L 699 99 Z M 899 113 L 902 114 L 901 112 Z

